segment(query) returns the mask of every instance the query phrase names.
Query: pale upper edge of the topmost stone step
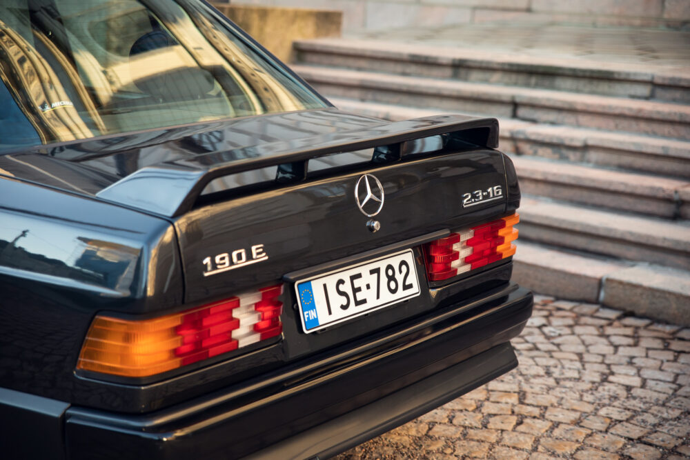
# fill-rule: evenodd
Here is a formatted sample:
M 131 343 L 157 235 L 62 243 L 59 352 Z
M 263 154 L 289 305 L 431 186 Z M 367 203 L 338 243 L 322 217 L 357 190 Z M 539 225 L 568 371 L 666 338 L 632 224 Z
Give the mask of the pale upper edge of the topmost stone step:
M 414 43 L 396 43 L 362 39 L 313 39 L 293 43 L 296 51 L 341 54 L 350 57 L 408 61 L 436 66 L 463 66 L 490 70 L 510 70 L 535 74 L 553 74 L 567 77 L 626 80 L 663 86 L 690 88 L 690 77 L 671 69 L 639 66 L 627 63 L 600 61 L 572 61 L 558 57 L 520 56 L 511 53 L 487 54 L 482 50 L 442 48 Z

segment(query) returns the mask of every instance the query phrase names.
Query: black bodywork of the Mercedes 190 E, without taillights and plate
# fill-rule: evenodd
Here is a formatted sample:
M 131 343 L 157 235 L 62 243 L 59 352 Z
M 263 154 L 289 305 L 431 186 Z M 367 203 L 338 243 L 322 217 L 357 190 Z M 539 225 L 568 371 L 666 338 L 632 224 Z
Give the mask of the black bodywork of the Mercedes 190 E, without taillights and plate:
M 208 118 L 197 119 L 215 121 L 131 130 L 140 127 L 137 118 L 128 119 L 133 112 L 124 102 L 143 100 L 137 116 L 148 122 L 142 113 L 157 100 L 141 88 L 169 107 L 159 94 L 165 88 L 153 84 L 166 75 L 150 67 L 134 69 L 139 79 L 127 77 L 129 62 L 142 61 L 141 50 L 132 54 L 126 43 L 112 61 L 117 66 L 105 68 L 126 80 L 114 81 L 122 94 L 110 94 L 112 103 L 89 102 L 102 94 L 79 86 L 79 72 L 66 72 L 83 90 L 79 97 L 90 103 L 89 116 L 101 108 L 115 118 L 126 115 L 121 121 L 127 130 L 89 137 L 88 132 L 113 130 L 96 130 L 88 117 L 79 119 L 79 103 L 70 105 L 64 94 L 48 101 L 48 86 L 39 87 L 43 80 L 28 72 L 37 69 L 34 54 L 59 57 L 64 51 L 63 70 L 77 68 L 70 67 L 70 57 L 84 56 L 68 52 L 73 37 L 64 33 L 57 14 L 77 11 L 81 4 L 66 2 L 53 11 L 55 2 L 48 3 L 37 0 L 31 11 L 17 9 L 35 19 L 33 30 L 8 34 L 6 18 L 0 19 L 0 33 L 12 36 L 0 46 L 0 71 L 8 78 L 0 86 L 24 81 L 34 90 L 21 93 L 22 99 L 10 88 L 14 93 L 0 94 L 4 103 L 29 107 L 24 121 L 37 132 L 55 123 L 80 128 L 57 137 L 43 133 L 39 141 L 45 145 L 13 150 L 14 143 L 0 142 L 0 423 L 16 422 L 13 430 L 0 430 L 3 452 L 18 459 L 51 451 L 55 458 L 147 460 L 329 455 L 516 365 L 509 341 L 524 328 L 532 297 L 510 282 L 512 258 L 428 281 L 424 252 L 431 241 L 506 218 L 519 206 L 515 168 L 495 150 L 495 119 L 440 115 L 389 123 L 342 112 L 205 3 L 131 1 L 117 5 L 116 19 L 127 8 L 139 14 L 150 6 L 153 12 L 137 24 L 147 28 L 150 22 L 152 32 L 161 32 L 159 39 L 172 37 L 164 29 L 184 20 L 195 34 L 205 34 L 204 52 L 228 46 L 237 53 L 245 47 L 257 66 L 277 75 L 279 87 L 259 85 L 249 60 L 235 54 L 244 88 L 272 94 L 266 107 L 255 106 L 263 114 L 215 119 L 211 110 Z M 88 21 L 77 20 L 79 34 L 87 37 L 84 25 L 98 24 L 104 11 L 97 5 Z M 65 14 L 67 21 L 79 17 Z M 42 43 L 39 51 L 30 50 L 33 38 Z M 160 41 L 149 41 L 149 51 L 156 56 L 172 56 L 168 48 L 184 51 L 168 38 L 162 50 Z M 80 43 L 105 47 L 112 57 L 108 40 Z M 8 50 L 17 52 L 9 61 L 2 54 Z M 21 57 L 32 58 L 26 72 L 20 72 Z M 185 62 L 193 68 L 192 61 Z M 206 67 L 210 75 L 219 70 Z M 101 81 L 104 74 L 94 69 L 89 78 Z M 195 71 L 173 70 L 199 83 Z M 40 75 L 53 83 L 68 80 Z M 191 91 L 181 88 L 183 96 Z M 276 91 L 289 99 L 289 107 L 300 106 L 299 97 L 311 101 L 303 105 L 309 109 L 276 112 Z M 186 106 L 175 98 L 166 103 L 190 112 L 200 107 L 197 101 L 216 99 L 212 91 L 199 96 L 187 101 L 189 110 L 180 110 Z M 13 119 L 21 118 L 14 112 Z M 233 108 L 233 114 L 240 112 Z M 17 139 L 24 135 L 20 131 Z M 385 194 L 375 215 L 364 211 L 357 195 L 365 174 Z M 463 205 L 464 194 L 494 188 L 502 190 L 500 197 Z M 403 250 L 416 264 L 418 296 L 305 333 L 295 282 Z M 236 251 L 257 260 L 233 270 L 206 268 L 205 261 Z M 77 365 L 97 316 L 158 319 L 281 284 L 282 294 L 273 299 L 282 303 L 277 337 L 147 377 Z M 353 428 L 358 418 L 362 423 Z M 29 446 L 32 435 L 37 441 Z

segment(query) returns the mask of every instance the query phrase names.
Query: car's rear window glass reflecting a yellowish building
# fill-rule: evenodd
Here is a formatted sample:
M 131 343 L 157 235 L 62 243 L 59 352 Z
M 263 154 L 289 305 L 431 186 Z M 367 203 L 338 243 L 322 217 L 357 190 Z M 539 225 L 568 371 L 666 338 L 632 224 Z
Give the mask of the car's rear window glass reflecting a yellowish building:
M 0 151 L 324 102 L 195 0 L 1 0 Z

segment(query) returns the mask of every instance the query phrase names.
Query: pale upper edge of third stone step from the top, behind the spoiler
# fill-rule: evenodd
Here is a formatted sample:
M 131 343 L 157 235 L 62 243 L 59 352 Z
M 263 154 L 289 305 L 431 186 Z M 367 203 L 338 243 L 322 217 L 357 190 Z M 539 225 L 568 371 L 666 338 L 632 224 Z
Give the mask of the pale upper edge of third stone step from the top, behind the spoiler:
M 338 97 L 331 97 L 329 100 L 342 110 L 391 121 L 449 113 L 448 110 L 395 106 L 393 104 L 356 101 L 355 99 Z M 485 117 L 486 115 L 480 116 Z M 690 141 L 682 141 L 680 139 L 664 139 L 662 137 L 633 133 L 622 134 L 620 132 L 580 128 L 577 126 L 547 125 L 510 118 L 499 118 L 499 125 L 500 137 L 505 140 L 526 139 L 552 145 L 565 144 L 571 147 L 611 148 L 690 161 Z

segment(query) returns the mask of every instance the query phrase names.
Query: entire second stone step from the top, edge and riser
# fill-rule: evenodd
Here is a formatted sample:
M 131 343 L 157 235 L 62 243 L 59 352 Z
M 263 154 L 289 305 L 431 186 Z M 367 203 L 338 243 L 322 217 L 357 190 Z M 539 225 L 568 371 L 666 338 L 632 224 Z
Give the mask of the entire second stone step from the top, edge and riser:
M 314 66 L 293 70 L 326 97 L 690 139 L 690 106 Z

